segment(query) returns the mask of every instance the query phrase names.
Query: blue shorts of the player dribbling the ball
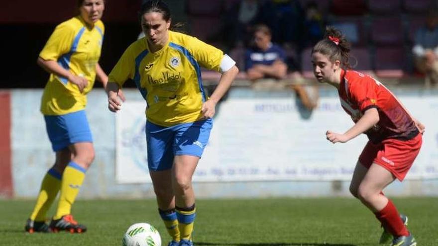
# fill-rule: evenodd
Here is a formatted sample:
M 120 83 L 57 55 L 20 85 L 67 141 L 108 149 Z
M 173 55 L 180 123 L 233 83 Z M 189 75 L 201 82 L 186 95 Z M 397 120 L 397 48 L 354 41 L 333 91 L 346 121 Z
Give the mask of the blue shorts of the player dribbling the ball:
M 147 165 L 149 170 L 172 168 L 175 156 L 201 158 L 209 142 L 213 119 L 162 127 L 146 122 Z

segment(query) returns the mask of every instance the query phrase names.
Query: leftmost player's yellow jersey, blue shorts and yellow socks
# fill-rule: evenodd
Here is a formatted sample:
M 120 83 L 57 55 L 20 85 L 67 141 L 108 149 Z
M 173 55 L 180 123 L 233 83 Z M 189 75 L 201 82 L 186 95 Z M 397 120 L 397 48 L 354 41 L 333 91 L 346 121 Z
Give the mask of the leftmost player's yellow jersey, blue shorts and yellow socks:
M 61 151 L 74 143 L 93 142 L 85 106 L 87 93 L 96 79 L 96 66 L 101 56 L 104 38 L 104 24 L 97 21 L 89 28 L 81 16 L 73 17 L 59 24 L 39 57 L 56 61 L 76 76 L 87 79 L 88 85 L 80 92 L 77 85 L 66 78 L 50 74 L 41 99 L 41 112 L 53 151 Z M 85 178 L 86 169 L 71 161 L 59 173 L 51 168 L 44 176 L 32 221 L 44 221 L 47 210 L 60 192 L 54 220 L 70 214 L 71 206 Z

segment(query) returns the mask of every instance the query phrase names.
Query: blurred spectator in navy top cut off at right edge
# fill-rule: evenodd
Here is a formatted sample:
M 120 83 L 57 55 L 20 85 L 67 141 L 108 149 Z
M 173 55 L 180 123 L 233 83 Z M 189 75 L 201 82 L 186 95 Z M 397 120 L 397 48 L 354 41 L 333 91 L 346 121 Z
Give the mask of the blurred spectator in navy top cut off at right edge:
M 438 10 L 429 11 L 426 23 L 417 30 L 412 49 L 416 69 L 426 75 L 427 87 L 438 85 Z

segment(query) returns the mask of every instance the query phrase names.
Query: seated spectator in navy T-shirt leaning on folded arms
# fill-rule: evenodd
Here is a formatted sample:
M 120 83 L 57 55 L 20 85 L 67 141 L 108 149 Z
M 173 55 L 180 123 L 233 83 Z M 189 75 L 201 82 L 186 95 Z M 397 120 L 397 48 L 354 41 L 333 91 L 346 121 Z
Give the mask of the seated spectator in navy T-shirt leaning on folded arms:
M 287 74 L 286 53 L 271 42 L 271 31 L 266 25 L 254 28 L 254 47 L 246 51 L 245 71 L 248 80 L 263 78 L 284 79 Z

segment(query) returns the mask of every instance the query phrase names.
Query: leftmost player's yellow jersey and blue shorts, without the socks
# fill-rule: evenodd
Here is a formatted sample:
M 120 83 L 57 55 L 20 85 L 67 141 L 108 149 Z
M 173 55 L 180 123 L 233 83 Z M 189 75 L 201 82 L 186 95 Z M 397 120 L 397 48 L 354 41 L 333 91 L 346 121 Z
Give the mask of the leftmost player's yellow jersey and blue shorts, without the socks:
M 41 98 L 41 112 L 54 151 L 78 142 L 93 142 L 85 106 L 87 93 L 96 79 L 96 65 L 101 56 L 105 27 L 97 21 L 87 27 L 82 17 L 76 16 L 59 24 L 39 56 L 57 61 L 73 75 L 87 79 L 88 85 L 81 92 L 66 78 L 50 74 Z

